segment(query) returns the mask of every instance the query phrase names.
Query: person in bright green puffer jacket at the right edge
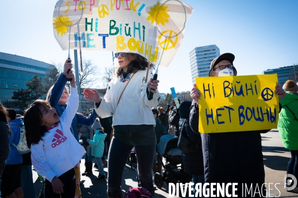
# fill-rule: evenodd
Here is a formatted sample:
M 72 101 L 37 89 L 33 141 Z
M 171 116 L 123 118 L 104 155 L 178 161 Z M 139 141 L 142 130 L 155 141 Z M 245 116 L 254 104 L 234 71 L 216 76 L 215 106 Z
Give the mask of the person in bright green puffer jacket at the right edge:
M 282 109 L 279 114 L 278 131 L 285 148 L 291 152 L 287 174 L 292 174 L 298 179 L 298 85 L 293 80 L 287 80 L 283 89 L 286 96 L 280 100 Z M 292 192 L 298 193 L 298 187 Z

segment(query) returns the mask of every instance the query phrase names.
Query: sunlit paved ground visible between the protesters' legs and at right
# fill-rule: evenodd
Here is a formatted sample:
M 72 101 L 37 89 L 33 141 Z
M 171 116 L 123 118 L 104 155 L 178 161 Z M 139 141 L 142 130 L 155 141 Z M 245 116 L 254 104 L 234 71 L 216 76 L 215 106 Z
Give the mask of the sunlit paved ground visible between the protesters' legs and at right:
M 269 189 L 270 194 L 267 197 L 280 197 L 280 198 L 298 198 L 298 194 L 290 193 L 284 190 L 284 177 L 287 171 L 287 165 L 290 160 L 290 152 L 285 149 L 282 140 L 277 130 L 271 130 L 268 133 L 262 134 L 262 146 L 263 146 L 263 157 L 265 165 L 267 183 L 266 189 Z M 84 160 L 82 160 L 84 164 Z M 99 172 L 93 169 L 95 175 L 86 177 L 82 176 L 82 197 L 83 198 L 106 198 L 106 181 L 96 181 L 96 177 Z M 81 171 L 84 171 L 84 166 Z M 105 175 L 107 175 L 107 168 L 104 169 Z M 38 197 L 41 189 L 41 182 L 37 178 L 36 172 L 33 170 L 33 181 L 35 184 L 35 191 Z M 279 183 L 279 184 L 278 184 Z M 276 186 L 276 187 L 275 187 Z M 129 163 L 127 163 L 122 180 L 123 192 L 127 191 L 129 187 L 137 187 L 136 171 L 131 169 Z M 168 186 L 164 182 L 163 188 L 155 191 L 155 198 L 168 198 Z M 176 197 L 174 197 L 176 198 Z

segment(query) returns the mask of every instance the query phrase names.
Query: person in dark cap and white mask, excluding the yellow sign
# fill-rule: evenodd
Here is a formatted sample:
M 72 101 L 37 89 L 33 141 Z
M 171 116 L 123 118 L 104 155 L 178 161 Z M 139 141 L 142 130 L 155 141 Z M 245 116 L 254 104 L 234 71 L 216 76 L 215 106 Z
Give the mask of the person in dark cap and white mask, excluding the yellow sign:
M 230 53 L 215 58 L 210 64 L 209 76 L 236 75 L 237 70 L 233 66 L 234 59 L 235 56 Z M 283 98 L 286 93 L 282 86 L 277 85 L 275 88 L 279 99 Z M 190 125 L 196 133 L 199 133 L 200 95 L 199 89 L 194 84 L 191 91 L 194 101 L 191 107 Z M 255 194 L 254 197 L 266 197 L 266 189 L 262 188 L 265 183 L 265 170 L 260 133 L 268 131 L 270 130 L 229 132 L 227 129 L 227 132 L 201 133 L 205 182 L 224 183 L 225 185 L 238 183 L 237 190 L 234 192 L 238 197 L 242 197 L 245 185 L 248 189 L 257 188 L 257 191 L 263 194 Z M 232 190 L 230 186 L 228 193 L 231 195 Z

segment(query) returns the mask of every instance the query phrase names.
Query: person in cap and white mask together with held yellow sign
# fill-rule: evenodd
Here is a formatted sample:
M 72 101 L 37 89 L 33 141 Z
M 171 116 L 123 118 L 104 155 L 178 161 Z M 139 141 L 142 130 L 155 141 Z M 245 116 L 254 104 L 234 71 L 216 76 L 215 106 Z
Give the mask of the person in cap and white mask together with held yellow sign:
M 206 183 L 238 183 L 238 197 L 245 187 L 266 197 L 260 133 L 277 128 L 278 101 L 286 93 L 276 75 L 236 76 L 234 59 L 220 55 L 210 64 L 210 77 L 196 79 L 190 125 L 201 133 Z

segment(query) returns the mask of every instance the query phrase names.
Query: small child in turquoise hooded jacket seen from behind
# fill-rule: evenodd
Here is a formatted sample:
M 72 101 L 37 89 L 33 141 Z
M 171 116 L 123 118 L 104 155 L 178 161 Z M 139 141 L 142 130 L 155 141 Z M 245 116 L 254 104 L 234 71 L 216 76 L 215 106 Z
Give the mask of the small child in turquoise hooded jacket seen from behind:
M 95 131 L 93 140 L 87 139 L 87 142 L 91 145 L 91 148 L 92 148 L 91 155 L 96 158 L 96 162 L 99 166 L 99 176 L 96 179 L 96 181 L 101 181 L 101 180 L 105 180 L 103 166 L 101 164 L 101 157 L 103 155 L 104 139 L 105 139 L 106 133 L 102 131 L 98 118 L 95 120 L 94 124 L 92 125 L 92 129 Z

